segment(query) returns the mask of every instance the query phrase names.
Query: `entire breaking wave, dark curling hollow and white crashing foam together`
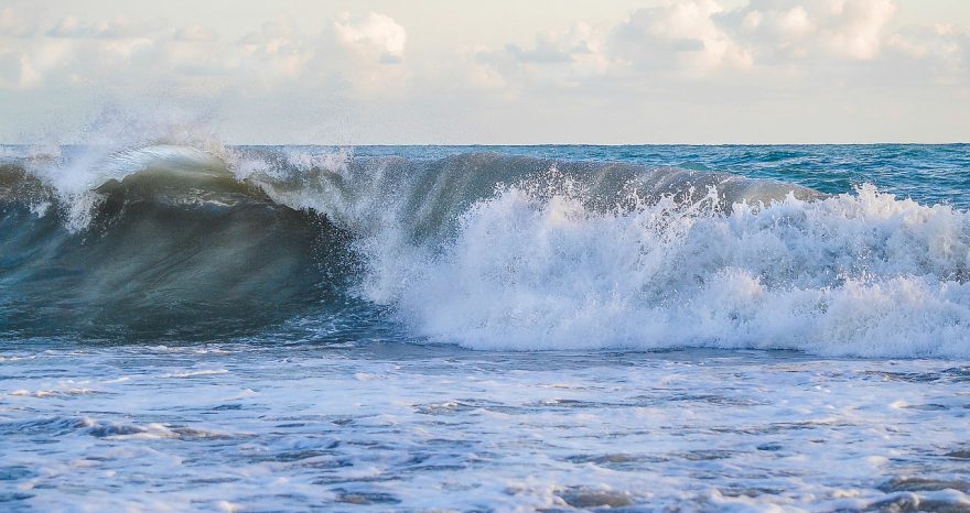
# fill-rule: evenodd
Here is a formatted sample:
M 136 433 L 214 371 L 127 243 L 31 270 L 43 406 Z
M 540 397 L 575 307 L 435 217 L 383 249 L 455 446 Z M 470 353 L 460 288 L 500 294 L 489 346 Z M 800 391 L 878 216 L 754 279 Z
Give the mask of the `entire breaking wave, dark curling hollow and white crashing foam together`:
M 478 349 L 970 354 L 970 217 L 867 185 L 292 148 L 4 162 L 8 334 L 219 338 L 356 305 Z

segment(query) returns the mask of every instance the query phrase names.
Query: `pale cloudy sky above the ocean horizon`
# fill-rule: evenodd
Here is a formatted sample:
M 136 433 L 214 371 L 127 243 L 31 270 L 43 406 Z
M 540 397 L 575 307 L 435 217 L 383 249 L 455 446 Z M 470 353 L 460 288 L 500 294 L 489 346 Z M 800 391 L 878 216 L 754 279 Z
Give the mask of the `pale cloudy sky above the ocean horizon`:
M 0 142 L 160 127 L 234 144 L 970 142 L 970 1 L 0 1 Z

